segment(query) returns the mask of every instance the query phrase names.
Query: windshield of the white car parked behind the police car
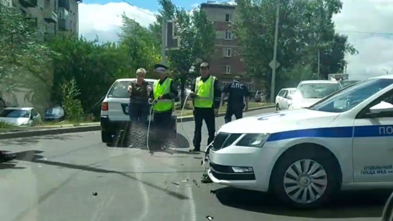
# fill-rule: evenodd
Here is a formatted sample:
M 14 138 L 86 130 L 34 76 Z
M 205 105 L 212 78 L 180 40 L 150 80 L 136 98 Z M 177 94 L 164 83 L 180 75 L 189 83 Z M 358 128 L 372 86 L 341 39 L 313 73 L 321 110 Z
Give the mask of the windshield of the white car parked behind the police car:
M 324 98 L 333 92 L 340 90 L 339 84 L 332 83 L 305 83 L 299 85 L 298 91 L 305 99 Z

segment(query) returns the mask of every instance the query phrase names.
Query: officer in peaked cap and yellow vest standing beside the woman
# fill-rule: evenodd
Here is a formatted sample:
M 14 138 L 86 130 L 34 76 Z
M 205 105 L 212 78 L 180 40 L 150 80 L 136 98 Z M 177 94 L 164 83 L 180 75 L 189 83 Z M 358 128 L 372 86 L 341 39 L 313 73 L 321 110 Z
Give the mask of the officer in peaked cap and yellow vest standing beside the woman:
M 174 110 L 174 102 L 178 101 L 178 91 L 173 79 L 168 77 L 168 67 L 163 64 L 154 65 L 155 71 L 158 73 L 160 80 L 153 85 L 153 102 L 154 123 L 160 128 L 165 136 L 166 129 L 171 125 L 172 111 Z

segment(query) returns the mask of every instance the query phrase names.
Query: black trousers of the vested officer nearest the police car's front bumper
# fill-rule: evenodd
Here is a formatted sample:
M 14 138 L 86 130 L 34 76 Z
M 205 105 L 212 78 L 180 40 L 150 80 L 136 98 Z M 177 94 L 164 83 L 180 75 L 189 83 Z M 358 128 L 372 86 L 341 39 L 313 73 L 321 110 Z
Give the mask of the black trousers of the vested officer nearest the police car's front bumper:
M 195 150 L 200 150 L 200 142 L 202 140 L 202 122 L 205 120 L 206 126 L 208 127 L 208 144 L 214 140 L 214 134 L 216 132 L 215 128 L 215 116 L 213 107 L 210 108 L 194 108 L 194 119 L 195 119 L 195 131 L 194 131 L 194 148 Z

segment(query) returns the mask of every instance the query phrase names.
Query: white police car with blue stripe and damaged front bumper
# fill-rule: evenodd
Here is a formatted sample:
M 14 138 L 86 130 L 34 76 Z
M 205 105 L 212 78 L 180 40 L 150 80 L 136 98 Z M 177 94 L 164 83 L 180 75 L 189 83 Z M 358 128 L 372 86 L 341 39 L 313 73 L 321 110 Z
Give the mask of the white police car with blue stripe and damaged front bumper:
M 343 189 L 393 187 L 393 75 L 343 88 L 307 109 L 223 125 L 209 177 L 313 207 Z

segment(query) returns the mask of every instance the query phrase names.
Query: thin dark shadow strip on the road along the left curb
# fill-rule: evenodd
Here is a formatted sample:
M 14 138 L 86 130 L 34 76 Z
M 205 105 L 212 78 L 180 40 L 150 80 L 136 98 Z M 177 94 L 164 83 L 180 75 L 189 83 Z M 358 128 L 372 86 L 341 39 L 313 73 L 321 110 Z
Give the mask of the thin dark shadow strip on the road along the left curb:
M 32 143 L 38 143 L 40 140 L 71 140 L 77 137 L 82 137 L 79 135 L 69 135 L 69 134 L 56 134 L 56 135 L 45 135 L 45 136 L 30 136 L 26 138 L 15 138 L 15 139 L 5 139 L 0 140 L 2 145 L 28 145 Z

